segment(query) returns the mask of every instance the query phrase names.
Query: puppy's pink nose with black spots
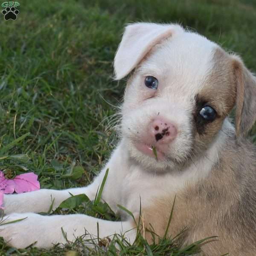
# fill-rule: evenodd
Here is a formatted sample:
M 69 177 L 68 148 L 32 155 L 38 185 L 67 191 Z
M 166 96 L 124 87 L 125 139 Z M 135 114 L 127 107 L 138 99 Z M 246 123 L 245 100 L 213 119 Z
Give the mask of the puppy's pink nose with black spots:
M 156 142 L 170 143 L 177 135 L 177 128 L 172 122 L 158 117 L 151 123 L 150 133 Z

